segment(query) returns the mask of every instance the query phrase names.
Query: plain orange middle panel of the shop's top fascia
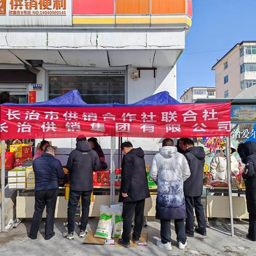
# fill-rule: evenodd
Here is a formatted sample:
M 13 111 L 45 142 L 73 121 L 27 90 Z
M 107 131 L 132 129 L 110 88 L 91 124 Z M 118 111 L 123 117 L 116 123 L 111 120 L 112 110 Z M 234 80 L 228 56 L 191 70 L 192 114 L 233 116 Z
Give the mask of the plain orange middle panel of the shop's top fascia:
M 150 0 L 117 0 L 116 14 L 149 14 Z

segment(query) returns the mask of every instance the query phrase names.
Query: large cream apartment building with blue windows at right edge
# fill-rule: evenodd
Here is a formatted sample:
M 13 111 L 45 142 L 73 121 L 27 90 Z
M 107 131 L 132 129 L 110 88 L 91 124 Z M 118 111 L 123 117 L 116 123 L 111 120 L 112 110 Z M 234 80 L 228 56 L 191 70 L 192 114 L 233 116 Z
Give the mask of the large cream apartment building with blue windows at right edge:
M 217 98 L 242 97 L 244 90 L 256 85 L 256 41 L 236 44 L 212 70 Z

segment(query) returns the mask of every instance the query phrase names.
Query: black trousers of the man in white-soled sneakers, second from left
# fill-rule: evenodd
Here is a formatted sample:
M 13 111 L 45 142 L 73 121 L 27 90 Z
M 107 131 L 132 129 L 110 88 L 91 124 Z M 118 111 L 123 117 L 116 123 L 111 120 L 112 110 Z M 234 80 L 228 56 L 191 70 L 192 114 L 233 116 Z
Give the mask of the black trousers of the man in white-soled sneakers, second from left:
M 91 204 L 91 194 L 92 194 L 92 190 L 90 190 L 90 191 L 70 190 L 69 191 L 68 233 L 74 232 L 76 207 L 77 207 L 80 197 L 82 199 L 82 216 L 81 216 L 81 220 L 80 220 L 80 222 L 81 222 L 80 230 L 83 230 L 83 231 L 86 230 L 86 226 L 88 223 L 90 204 Z

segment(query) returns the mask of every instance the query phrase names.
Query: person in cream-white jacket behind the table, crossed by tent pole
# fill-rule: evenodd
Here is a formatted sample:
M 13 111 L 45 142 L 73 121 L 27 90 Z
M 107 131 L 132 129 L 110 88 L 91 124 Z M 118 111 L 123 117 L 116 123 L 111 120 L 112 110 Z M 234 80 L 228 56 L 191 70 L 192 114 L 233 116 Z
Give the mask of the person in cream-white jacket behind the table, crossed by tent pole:
M 231 145 L 231 174 L 233 176 L 237 176 L 239 174 L 239 163 L 237 159 L 232 155 L 235 153 L 236 149 Z M 220 153 L 215 155 L 212 158 L 210 164 L 210 173 L 212 174 L 212 180 L 221 180 L 226 181 L 228 180 L 228 173 L 227 173 L 227 149 L 221 148 Z

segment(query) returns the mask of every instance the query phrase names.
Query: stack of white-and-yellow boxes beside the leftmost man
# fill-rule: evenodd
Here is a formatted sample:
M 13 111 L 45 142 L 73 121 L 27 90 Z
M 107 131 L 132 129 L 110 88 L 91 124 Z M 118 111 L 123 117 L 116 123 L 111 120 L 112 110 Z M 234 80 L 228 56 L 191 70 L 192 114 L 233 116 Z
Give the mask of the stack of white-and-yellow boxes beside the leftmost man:
M 26 188 L 26 167 L 18 167 L 8 171 L 9 189 Z

